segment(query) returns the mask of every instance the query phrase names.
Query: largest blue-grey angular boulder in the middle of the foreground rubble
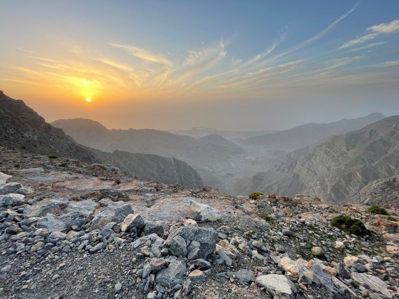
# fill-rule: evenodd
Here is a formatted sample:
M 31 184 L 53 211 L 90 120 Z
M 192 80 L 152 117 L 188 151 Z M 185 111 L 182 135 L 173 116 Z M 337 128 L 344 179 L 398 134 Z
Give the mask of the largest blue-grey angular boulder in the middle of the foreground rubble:
M 166 240 L 166 245 L 170 245 L 173 238 L 181 236 L 186 242 L 197 241 L 200 243 L 198 258 L 206 259 L 207 255 L 216 248 L 217 232 L 213 228 L 203 228 L 195 226 L 183 226 L 174 230 Z

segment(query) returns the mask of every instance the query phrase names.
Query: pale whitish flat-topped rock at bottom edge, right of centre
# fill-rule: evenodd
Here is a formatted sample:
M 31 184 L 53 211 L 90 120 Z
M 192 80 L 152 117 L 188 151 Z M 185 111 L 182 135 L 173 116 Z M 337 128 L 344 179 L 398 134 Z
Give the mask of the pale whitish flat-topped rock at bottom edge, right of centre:
M 255 280 L 258 286 L 264 287 L 270 296 L 277 299 L 294 298 L 293 283 L 284 275 L 268 274 L 258 276 Z

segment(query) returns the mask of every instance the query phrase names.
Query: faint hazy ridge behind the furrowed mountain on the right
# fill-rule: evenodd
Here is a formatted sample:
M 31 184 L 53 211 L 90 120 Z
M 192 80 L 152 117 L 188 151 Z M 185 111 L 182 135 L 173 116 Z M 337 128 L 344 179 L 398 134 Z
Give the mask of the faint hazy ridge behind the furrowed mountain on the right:
M 243 145 L 271 146 L 284 149 L 301 149 L 315 144 L 329 136 L 345 134 L 359 130 L 369 124 L 382 120 L 384 115 L 372 113 L 365 117 L 343 119 L 328 124 L 305 124 L 290 130 L 268 133 L 265 135 L 247 138 L 241 141 Z

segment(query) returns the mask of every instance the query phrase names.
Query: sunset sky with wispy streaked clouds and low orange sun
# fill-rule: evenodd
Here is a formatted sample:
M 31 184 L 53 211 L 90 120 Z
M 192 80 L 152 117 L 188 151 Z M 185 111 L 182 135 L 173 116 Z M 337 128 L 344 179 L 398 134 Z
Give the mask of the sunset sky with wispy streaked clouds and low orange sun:
M 399 1 L 0 0 L 0 90 L 46 121 L 283 130 L 399 114 Z

